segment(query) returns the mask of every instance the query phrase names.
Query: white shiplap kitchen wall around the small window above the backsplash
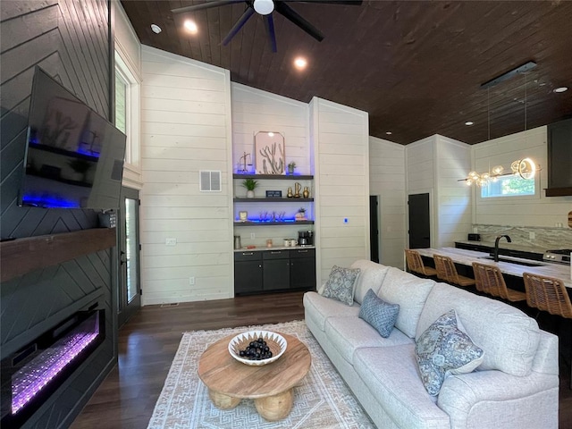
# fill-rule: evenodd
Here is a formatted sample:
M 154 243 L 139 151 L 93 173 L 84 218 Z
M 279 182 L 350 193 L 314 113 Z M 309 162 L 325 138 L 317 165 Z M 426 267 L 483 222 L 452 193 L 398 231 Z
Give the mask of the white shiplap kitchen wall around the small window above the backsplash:
M 509 170 L 510 163 L 526 156 L 540 164 L 537 197 L 475 198 L 475 223 L 509 226 L 554 227 L 566 225 L 572 197 L 545 197 L 548 187 L 547 127 L 539 127 L 492 139 L 474 146 L 475 170 L 485 172 L 497 164 Z M 533 243 L 534 244 L 534 243 Z

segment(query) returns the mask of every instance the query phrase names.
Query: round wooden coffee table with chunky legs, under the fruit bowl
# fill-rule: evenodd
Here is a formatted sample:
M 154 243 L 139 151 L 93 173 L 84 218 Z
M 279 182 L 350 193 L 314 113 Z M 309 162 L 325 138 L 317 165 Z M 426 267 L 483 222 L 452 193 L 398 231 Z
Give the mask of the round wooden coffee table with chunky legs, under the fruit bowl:
M 296 337 L 278 333 L 288 341 L 288 347 L 278 360 L 264 366 L 248 366 L 231 357 L 228 346 L 234 335 L 205 350 L 198 361 L 198 376 L 217 408 L 234 408 L 240 400 L 250 399 L 266 420 L 281 420 L 290 414 L 292 389 L 310 370 L 312 357 Z

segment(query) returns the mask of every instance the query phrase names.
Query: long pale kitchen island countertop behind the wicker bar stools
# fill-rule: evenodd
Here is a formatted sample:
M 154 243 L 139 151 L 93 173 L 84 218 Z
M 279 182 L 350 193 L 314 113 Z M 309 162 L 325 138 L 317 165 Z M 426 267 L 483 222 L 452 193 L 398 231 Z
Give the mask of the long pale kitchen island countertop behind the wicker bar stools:
M 505 261 L 494 262 L 492 259 L 487 259 L 487 257 L 489 257 L 487 252 L 477 252 L 475 250 L 466 250 L 463 248 L 416 248 L 415 250 L 418 251 L 422 257 L 433 259 L 433 255 L 435 253 L 445 257 L 450 257 L 454 263 L 459 265 L 472 266 L 473 262 L 496 265 L 501 270 L 501 273 L 520 278 L 522 278 L 522 273 L 534 273 L 547 277 L 555 277 L 562 280 L 567 288 L 572 289 L 569 265 L 531 261 L 519 257 L 506 256 L 501 257 L 502 259 L 505 259 Z M 537 266 L 521 265 L 518 263 L 532 264 Z

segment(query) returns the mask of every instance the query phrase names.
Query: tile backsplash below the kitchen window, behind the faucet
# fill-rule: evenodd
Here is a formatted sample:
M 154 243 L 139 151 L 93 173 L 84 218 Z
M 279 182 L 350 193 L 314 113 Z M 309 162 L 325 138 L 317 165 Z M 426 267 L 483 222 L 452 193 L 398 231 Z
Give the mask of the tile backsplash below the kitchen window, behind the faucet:
M 535 226 L 507 226 L 474 224 L 473 232 L 481 234 L 481 241 L 494 241 L 507 234 L 514 244 L 537 248 L 572 248 L 572 228 L 543 228 Z

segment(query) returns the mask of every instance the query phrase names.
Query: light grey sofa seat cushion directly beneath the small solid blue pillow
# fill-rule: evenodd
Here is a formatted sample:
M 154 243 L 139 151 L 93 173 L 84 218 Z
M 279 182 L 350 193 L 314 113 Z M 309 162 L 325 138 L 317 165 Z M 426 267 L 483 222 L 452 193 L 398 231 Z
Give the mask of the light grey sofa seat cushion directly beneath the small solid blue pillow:
M 329 317 L 325 322 L 325 334 L 341 357 L 350 364 L 357 349 L 364 347 L 385 349 L 389 346 L 413 343 L 413 340 L 398 329 L 394 329 L 389 337 L 383 338 L 374 327 L 356 316 Z

